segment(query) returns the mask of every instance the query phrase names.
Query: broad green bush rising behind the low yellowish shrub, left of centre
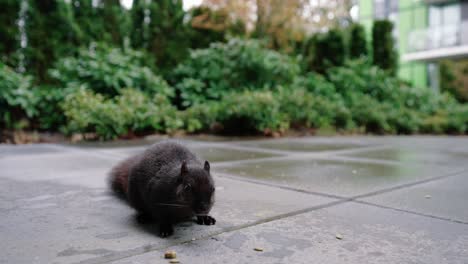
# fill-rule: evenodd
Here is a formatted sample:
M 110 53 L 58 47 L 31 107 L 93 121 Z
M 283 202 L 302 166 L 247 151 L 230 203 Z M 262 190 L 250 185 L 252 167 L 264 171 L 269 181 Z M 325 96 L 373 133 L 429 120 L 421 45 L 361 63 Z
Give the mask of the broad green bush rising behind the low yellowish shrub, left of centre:
M 110 96 L 119 94 L 123 88 L 171 95 L 167 83 L 146 66 L 145 60 L 144 53 L 139 51 L 98 45 L 80 49 L 78 58 L 62 58 L 50 75 L 62 87 L 84 85 Z

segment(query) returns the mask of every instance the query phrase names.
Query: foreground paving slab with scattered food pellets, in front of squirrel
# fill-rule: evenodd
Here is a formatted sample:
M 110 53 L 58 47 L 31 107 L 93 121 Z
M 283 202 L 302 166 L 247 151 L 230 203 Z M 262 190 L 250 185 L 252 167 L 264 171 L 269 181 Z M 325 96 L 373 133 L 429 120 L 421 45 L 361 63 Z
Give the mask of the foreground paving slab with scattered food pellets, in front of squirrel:
M 464 264 L 468 225 L 348 202 L 168 249 L 195 264 Z M 167 263 L 164 250 L 112 263 Z

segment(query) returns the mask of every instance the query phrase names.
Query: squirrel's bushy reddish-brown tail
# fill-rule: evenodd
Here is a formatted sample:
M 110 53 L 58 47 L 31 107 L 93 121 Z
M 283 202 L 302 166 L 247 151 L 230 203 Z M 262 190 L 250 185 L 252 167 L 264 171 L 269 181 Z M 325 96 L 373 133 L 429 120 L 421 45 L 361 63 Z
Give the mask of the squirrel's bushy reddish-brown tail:
M 132 157 L 121 161 L 109 174 L 109 186 L 113 193 L 121 199 L 127 199 L 128 193 L 128 177 L 130 169 L 135 164 L 137 157 Z

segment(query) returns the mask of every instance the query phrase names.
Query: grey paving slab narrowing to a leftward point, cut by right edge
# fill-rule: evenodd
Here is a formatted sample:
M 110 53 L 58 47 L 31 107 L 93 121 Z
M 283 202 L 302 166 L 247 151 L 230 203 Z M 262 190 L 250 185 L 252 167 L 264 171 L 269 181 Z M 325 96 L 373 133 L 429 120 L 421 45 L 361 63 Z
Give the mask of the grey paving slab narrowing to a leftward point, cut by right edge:
M 468 173 L 371 196 L 363 201 L 468 223 Z

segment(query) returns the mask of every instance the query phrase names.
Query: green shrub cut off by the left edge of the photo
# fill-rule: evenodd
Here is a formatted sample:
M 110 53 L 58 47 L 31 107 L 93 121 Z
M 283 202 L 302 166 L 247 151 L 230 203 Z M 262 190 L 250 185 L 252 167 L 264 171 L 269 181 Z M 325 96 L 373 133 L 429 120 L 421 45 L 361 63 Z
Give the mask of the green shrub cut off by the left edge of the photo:
M 0 128 L 22 128 L 24 120 L 37 114 L 36 102 L 31 77 L 0 62 Z

